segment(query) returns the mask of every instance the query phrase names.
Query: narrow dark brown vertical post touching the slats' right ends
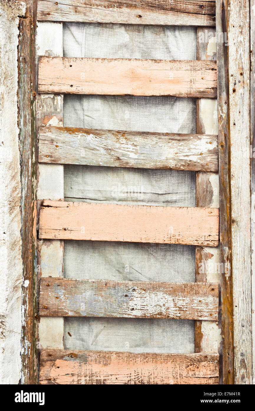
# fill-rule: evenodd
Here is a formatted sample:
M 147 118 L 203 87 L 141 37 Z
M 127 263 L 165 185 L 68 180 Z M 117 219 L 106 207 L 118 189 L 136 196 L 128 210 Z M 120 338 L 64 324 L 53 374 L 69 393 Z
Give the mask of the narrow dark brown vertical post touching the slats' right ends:
M 228 0 L 216 0 L 216 32 L 228 33 Z M 239 26 L 239 23 L 237 23 Z M 228 46 L 217 42 L 218 136 L 219 136 L 219 212 L 221 262 L 228 267 L 221 274 L 221 316 L 223 384 L 234 383 L 233 364 L 233 295 L 231 254 L 231 187 L 230 187 L 230 106 Z M 240 174 L 240 170 L 238 171 Z

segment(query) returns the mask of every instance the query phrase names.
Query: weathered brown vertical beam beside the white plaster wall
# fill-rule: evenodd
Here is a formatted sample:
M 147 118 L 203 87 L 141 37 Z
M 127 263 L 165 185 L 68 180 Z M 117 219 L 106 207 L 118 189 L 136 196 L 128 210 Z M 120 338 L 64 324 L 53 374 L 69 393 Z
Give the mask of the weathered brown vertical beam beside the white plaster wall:
M 23 259 L 22 378 L 35 384 L 37 373 L 37 281 L 36 281 L 36 134 L 35 49 L 31 17 L 20 18 L 18 44 L 18 127 L 20 129 L 21 239 Z

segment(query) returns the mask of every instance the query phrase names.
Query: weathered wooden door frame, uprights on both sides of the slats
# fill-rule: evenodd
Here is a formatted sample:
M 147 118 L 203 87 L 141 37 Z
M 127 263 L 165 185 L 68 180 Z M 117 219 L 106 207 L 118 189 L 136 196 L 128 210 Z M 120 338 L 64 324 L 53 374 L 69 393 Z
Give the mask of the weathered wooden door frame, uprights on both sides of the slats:
M 36 260 L 36 193 L 37 136 L 35 127 L 35 50 L 36 1 L 27 0 L 25 17 L 20 18 L 18 47 L 19 115 L 22 130 L 21 208 L 23 281 L 29 286 L 23 293 L 22 363 L 23 382 L 37 383 L 37 260 Z M 222 329 L 221 374 L 223 384 L 252 381 L 252 279 L 251 198 L 255 199 L 255 161 L 250 161 L 250 144 L 255 139 L 254 76 L 250 81 L 250 63 L 255 42 L 255 0 L 216 0 L 216 35 L 218 67 L 219 120 L 219 203 L 221 262 L 228 267 L 221 275 L 221 307 L 219 325 Z M 251 10 L 251 13 L 250 13 Z M 250 29 L 251 27 L 251 29 Z M 225 43 L 227 36 L 227 43 Z M 251 38 L 251 42 L 250 42 Z M 223 41 L 222 41 L 223 39 Z M 251 45 L 250 45 L 251 44 Z M 24 80 L 26 83 L 24 83 Z M 251 87 L 250 87 L 251 85 Z M 29 92 L 27 92 L 29 88 Z M 29 113 L 29 122 L 25 114 Z M 251 120 L 250 120 L 251 118 Z M 30 132 L 30 129 L 32 132 Z M 28 164 L 32 164 L 27 175 Z M 27 177 L 27 178 L 26 178 Z M 252 196 L 250 194 L 252 183 Z M 32 204 L 32 206 L 31 206 Z M 254 209 L 253 222 L 255 222 Z M 253 224 L 254 226 L 254 224 Z M 30 238 L 30 242 L 27 242 Z M 254 234 L 253 234 L 254 240 Z M 253 286 L 254 288 L 254 286 Z M 255 304 L 253 302 L 253 308 Z M 253 329 L 254 329 L 253 314 Z M 253 333 L 255 335 L 255 332 Z M 253 337 L 254 338 L 254 337 Z M 27 350 L 29 346 L 29 350 Z

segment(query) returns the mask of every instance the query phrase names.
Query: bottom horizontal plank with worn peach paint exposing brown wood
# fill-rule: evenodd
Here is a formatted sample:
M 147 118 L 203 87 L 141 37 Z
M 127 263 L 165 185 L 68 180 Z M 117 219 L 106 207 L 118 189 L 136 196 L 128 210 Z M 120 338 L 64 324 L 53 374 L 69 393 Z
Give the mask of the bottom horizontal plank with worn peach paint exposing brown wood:
M 43 350 L 41 384 L 217 384 L 218 354 Z

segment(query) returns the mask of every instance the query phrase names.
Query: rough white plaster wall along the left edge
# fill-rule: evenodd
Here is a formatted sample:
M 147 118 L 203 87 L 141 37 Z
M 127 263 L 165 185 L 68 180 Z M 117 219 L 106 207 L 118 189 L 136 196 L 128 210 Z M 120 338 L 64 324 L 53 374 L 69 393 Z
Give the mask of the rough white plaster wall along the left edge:
M 18 145 L 18 16 L 25 3 L 0 2 L 0 384 L 21 377 L 20 160 Z

